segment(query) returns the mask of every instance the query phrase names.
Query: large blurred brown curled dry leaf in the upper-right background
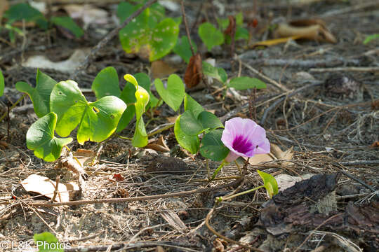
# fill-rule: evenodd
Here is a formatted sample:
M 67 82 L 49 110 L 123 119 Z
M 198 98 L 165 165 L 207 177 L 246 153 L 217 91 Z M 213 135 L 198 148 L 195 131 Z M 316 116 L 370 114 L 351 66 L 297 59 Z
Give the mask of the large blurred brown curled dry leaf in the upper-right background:
M 298 36 L 319 42 L 337 43 L 337 39 L 322 20 L 296 20 L 289 24 L 279 24 L 274 31 L 275 38 Z

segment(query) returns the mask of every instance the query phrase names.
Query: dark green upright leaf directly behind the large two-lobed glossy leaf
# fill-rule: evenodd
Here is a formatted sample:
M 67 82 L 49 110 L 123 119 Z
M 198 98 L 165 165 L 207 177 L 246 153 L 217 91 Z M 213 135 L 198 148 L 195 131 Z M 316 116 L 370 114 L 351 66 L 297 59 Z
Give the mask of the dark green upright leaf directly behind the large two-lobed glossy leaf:
M 117 75 L 116 69 L 112 66 L 102 69 L 96 76 L 95 80 L 93 80 L 92 90 L 95 92 L 97 99 L 107 95 L 120 97 L 121 90 L 119 87 L 119 76 Z

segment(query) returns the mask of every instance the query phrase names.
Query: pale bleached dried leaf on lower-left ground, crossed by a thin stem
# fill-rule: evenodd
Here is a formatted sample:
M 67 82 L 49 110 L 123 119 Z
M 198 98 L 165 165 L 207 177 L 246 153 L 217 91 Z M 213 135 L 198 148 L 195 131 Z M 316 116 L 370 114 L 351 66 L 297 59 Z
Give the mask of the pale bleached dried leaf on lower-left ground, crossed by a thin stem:
M 32 174 L 21 181 L 22 187 L 27 192 L 39 193 L 40 195 L 44 195 L 48 198 L 52 198 L 55 191 L 55 182 L 51 179 L 48 179 L 45 176 L 40 176 L 38 174 Z M 58 183 L 58 193 L 55 197 L 56 202 L 68 202 L 69 201 L 69 193 L 67 192 L 67 187 Z

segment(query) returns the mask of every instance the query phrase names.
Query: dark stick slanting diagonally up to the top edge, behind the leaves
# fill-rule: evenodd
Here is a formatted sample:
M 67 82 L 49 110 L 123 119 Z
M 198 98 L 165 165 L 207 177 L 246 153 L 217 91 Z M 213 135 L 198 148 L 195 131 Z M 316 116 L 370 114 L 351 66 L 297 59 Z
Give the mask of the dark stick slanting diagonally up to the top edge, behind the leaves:
M 102 40 L 97 45 L 95 45 L 94 48 L 92 48 L 90 54 L 87 55 L 86 59 L 84 59 L 84 61 L 81 62 L 81 64 L 77 67 L 77 69 L 74 71 L 74 73 L 72 73 L 72 75 L 69 76 L 69 78 L 74 79 L 75 77 L 77 77 L 79 71 L 86 69 L 88 64 L 90 64 L 92 58 L 96 55 L 96 53 L 98 53 L 98 51 L 101 48 L 103 48 L 105 45 L 107 45 L 107 43 L 109 43 L 109 41 L 111 41 L 112 38 L 114 38 L 114 36 L 117 36 L 119 31 L 123 27 L 128 25 L 134 18 L 136 18 L 138 15 L 140 15 L 140 13 L 142 13 L 143 10 L 145 10 L 146 8 L 149 8 L 149 6 L 151 6 L 153 3 L 157 2 L 157 1 L 158 0 L 148 1 L 147 3 L 145 3 L 144 6 L 142 6 L 140 9 L 136 10 L 129 18 L 126 18 L 126 20 L 119 27 L 110 31 L 109 34 L 107 34 L 107 36 L 102 38 Z

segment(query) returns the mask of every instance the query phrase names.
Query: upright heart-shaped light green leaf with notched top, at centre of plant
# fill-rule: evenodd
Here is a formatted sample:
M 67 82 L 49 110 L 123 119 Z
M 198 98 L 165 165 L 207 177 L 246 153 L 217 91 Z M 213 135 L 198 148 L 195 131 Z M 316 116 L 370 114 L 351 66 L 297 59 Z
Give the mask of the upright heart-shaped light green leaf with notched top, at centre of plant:
M 176 74 L 168 76 L 167 89 L 164 88 L 164 84 L 159 78 L 154 80 L 154 85 L 164 102 L 166 102 L 173 111 L 178 111 L 185 95 L 185 87 L 180 77 Z

